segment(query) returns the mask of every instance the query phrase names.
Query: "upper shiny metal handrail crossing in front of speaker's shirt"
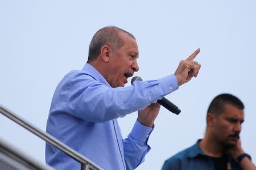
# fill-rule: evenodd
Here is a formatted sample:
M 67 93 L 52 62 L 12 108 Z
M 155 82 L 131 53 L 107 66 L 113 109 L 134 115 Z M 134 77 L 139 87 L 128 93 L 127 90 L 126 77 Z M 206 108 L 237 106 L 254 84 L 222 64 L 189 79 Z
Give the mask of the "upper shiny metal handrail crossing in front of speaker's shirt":
M 86 158 L 85 156 L 79 154 L 79 152 L 73 150 L 71 147 L 68 147 L 63 142 L 59 141 L 58 139 L 52 137 L 52 135 L 49 135 L 45 131 L 42 131 L 38 128 L 36 128 L 34 125 L 28 123 L 26 120 L 23 120 L 18 115 L 8 111 L 6 108 L 3 108 L 0 106 L 0 113 L 5 115 L 6 117 L 10 118 L 23 128 L 27 129 L 28 131 L 31 131 L 31 133 L 34 133 L 39 138 L 43 139 L 44 141 L 48 142 L 50 145 L 55 146 L 60 151 L 63 151 L 65 154 L 70 156 L 71 158 L 75 159 L 77 162 L 81 164 L 81 170 L 98 170 L 101 169 L 100 166 L 93 163 L 91 160 Z

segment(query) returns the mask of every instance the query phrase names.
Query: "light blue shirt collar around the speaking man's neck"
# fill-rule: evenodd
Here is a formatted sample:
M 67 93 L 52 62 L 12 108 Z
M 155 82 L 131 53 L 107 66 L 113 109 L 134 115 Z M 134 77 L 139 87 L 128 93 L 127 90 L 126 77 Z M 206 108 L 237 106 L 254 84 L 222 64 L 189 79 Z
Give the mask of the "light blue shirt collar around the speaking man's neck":
M 98 82 L 105 84 L 108 87 L 111 87 L 106 79 L 96 70 L 92 65 L 86 63 L 85 66 L 82 68 L 86 74 L 92 76 L 92 78 L 96 79 Z

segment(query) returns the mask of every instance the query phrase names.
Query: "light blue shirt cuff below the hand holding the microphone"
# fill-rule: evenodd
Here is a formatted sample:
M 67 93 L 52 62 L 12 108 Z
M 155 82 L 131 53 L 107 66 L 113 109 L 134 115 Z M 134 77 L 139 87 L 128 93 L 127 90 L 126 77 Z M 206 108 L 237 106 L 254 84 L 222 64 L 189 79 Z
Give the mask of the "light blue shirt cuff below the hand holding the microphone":
M 146 143 L 147 139 L 154 129 L 153 127 L 143 126 L 138 120 L 135 122 L 133 126 L 133 130 L 131 130 L 130 137 L 133 138 L 135 141 Z

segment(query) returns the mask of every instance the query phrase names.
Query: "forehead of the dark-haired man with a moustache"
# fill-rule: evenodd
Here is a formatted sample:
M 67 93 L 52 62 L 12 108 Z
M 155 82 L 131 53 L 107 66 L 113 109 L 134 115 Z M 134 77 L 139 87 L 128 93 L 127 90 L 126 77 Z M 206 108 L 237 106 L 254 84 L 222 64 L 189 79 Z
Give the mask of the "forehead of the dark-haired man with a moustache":
M 221 113 L 222 117 L 230 117 L 230 118 L 237 118 L 239 120 L 243 120 L 244 113 L 243 109 L 239 109 L 232 104 L 225 104 L 224 105 L 224 112 Z

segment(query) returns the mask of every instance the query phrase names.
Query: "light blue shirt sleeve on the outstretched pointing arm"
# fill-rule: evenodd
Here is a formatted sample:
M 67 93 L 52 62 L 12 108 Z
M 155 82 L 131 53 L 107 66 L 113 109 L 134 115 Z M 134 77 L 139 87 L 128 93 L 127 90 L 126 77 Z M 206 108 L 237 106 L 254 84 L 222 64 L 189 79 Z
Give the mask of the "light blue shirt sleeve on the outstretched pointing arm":
M 111 88 L 88 75 L 76 75 L 60 84 L 67 113 L 90 122 L 106 122 L 146 108 L 177 90 L 175 75 L 158 80 L 135 81 L 133 86 Z

